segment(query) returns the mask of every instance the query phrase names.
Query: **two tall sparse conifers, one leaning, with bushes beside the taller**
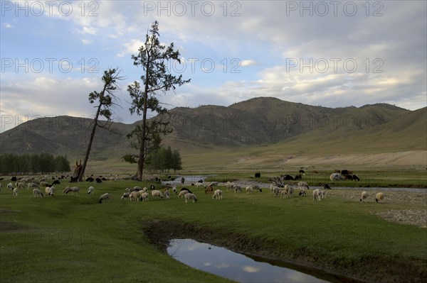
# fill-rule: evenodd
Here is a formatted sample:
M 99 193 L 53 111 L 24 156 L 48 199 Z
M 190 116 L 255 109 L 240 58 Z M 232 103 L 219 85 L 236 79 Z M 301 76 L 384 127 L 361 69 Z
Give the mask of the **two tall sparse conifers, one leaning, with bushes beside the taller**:
M 142 180 L 144 174 L 144 165 L 149 165 L 152 169 L 157 170 L 179 170 L 181 169 L 181 157 L 179 161 L 177 156 L 179 152 L 172 152 L 176 162 L 172 165 L 172 159 L 169 157 L 159 157 L 164 155 L 164 149 L 161 148 L 162 136 L 172 133 L 169 122 L 165 121 L 164 115 L 167 109 L 162 106 L 156 96 L 165 94 L 167 91 L 174 91 L 176 87 L 190 82 L 190 79 L 182 79 L 169 73 L 168 66 L 171 62 L 181 64 L 181 57 L 178 50 L 174 50 L 174 43 L 169 46 L 160 43 L 159 40 L 159 23 L 154 21 L 149 32 L 145 36 L 144 44 L 139 48 L 137 55 L 132 55 L 133 65 L 142 68 L 140 82 L 135 81 L 127 87 L 131 98 L 130 113 L 142 116 L 142 123 L 127 134 L 127 138 L 132 139 L 131 147 L 137 150 L 137 153 L 130 153 L 122 157 L 122 160 L 131 163 L 137 163 L 137 172 L 134 179 Z M 85 167 L 90 155 L 93 138 L 97 126 L 107 127 L 111 121 L 112 106 L 117 105 L 117 98 L 114 92 L 117 90 L 117 83 L 123 79 L 120 77 L 120 70 L 109 69 L 102 76 L 102 90 L 93 91 L 89 95 L 91 104 L 95 103 L 97 109 L 93 120 L 92 133 L 86 150 L 83 166 L 75 174 L 79 181 L 85 174 Z M 147 113 L 157 114 L 155 118 L 148 119 Z M 107 123 L 100 125 L 98 118 L 104 116 Z M 172 151 L 172 150 L 171 150 Z M 169 152 L 169 150 L 167 150 Z M 168 153 L 169 154 L 169 153 Z M 160 158 L 160 160 L 159 160 Z M 171 157 L 172 158 L 172 157 Z M 169 160 L 169 161 L 164 161 Z M 166 163 L 165 163 L 166 162 Z

